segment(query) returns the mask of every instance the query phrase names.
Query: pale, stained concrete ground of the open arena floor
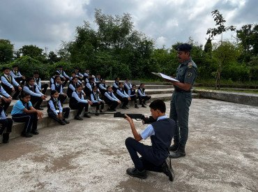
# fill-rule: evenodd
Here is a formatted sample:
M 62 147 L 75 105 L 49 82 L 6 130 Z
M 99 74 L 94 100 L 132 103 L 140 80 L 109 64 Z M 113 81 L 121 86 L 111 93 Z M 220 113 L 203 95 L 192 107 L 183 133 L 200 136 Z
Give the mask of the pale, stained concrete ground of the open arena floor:
M 125 112 L 149 115 L 149 108 Z M 145 180 L 126 175 L 132 161 L 124 140 L 132 134 L 124 119 L 43 128 L 0 144 L 0 191 L 258 191 L 257 125 L 258 107 L 193 99 L 186 156 L 172 160 L 174 182 L 158 172 Z

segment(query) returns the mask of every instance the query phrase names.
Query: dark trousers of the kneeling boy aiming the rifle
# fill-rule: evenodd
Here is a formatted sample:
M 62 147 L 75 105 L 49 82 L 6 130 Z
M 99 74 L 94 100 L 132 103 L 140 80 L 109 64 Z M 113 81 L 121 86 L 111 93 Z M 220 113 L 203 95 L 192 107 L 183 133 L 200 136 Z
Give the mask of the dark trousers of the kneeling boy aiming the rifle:
M 127 138 L 126 148 L 128 149 L 133 163 L 135 164 L 135 168 L 138 170 L 145 169 L 155 172 L 162 172 L 161 165 L 164 163 L 166 158 L 155 156 L 151 146 L 144 145 L 142 142 L 139 142 L 134 138 Z M 139 158 L 137 153 L 139 153 L 142 157 Z

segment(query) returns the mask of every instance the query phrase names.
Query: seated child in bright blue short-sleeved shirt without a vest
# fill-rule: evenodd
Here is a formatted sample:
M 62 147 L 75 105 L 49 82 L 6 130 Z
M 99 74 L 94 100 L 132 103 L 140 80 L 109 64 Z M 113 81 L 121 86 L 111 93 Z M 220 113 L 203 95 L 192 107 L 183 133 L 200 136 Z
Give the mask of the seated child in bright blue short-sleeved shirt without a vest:
M 22 91 L 20 100 L 13 105 L 11 112 L 13 121 L 25 122 L 22 131 L 22 136 L 25 138 L 31 138 L 32 134 L 38 135 L 38 119 L 43 117 L 42 112 L 33 108 L 30 100 L 31 96 Z

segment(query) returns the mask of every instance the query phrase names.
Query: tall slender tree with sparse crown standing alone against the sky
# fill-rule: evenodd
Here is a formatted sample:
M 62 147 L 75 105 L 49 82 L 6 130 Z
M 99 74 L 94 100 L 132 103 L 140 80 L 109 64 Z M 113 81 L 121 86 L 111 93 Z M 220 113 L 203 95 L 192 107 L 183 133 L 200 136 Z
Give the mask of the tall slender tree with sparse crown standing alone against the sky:
M 224 17 L 222 17 L 222 15 L 220 14 L 218 9 L 213 10 L 211 12 L 211 15 L 214 18 L 215 26 L 218 26 L 218 27 L 213 28 L 213 29 L 209 28 L 207 30 L 206 34 L 209 35 L 209 38 L 213 38 L 214 36 L 221 35 L 220 43 L 222 44 L 222 34 L 223 34 L 223 32 L 229 31 L 229 30 L 235 31 L 236 27 L 234 27 L 234 26 L 225 27 L 226 20 L 224 19 Z M 215 89 L 217 87 L 219 87 L 219 89 L 220 89 L 220 75 L 221 75 L 221 70 L 222 70 L 221 65 L 222 64 L 220 63 L 219 66 L 218 66 L 218 71 L 217 71 L 217 75 L 216 75 L 216 82 L 215 82 Z

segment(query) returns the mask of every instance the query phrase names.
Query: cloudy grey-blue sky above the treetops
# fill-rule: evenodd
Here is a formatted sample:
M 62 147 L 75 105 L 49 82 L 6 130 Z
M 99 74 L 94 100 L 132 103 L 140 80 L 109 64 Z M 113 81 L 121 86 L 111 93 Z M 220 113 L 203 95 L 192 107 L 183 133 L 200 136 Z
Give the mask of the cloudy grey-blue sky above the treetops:
M 84 21 L 96 29 L 98 8 L 107 15 L 129 13 L 135 29 L 155 40 L 155 47 L 169 48 L 189 37 L 204 45 L 207 29 L 215 27 L 211 11 L 220 10 L 226 26 L 241 29 L 258 23 L 257 7 L 257 0 L 1 0 L 0 39 L 10 40 L 16 50 L 36 45 L 56 52 L 62 41 L 75 39 L 75 29 Z M 234 32 L 223 35 L 228 40 L 235 37 Z

